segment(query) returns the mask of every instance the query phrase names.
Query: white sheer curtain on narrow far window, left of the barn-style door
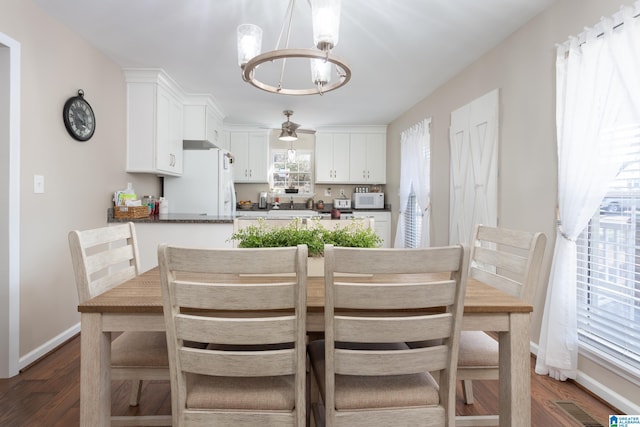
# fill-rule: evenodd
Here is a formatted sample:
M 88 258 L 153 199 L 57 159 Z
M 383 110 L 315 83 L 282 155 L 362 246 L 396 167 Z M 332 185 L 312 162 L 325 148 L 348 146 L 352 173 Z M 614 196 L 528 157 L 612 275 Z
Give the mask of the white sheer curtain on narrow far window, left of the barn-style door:
M 424 119 L 400 134 L 400 212 L 393 246 L 405 247 L 405 210 L 409 196 L 415 193 L 416 201 L 423 210 L 420 247 L 430 245 L 430 158 L 431 119 Z

